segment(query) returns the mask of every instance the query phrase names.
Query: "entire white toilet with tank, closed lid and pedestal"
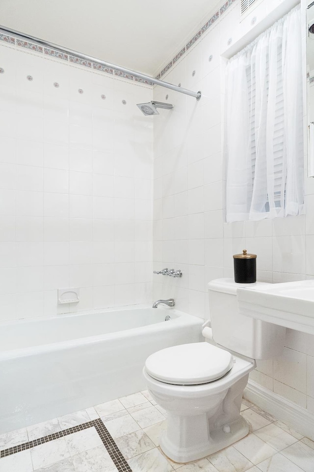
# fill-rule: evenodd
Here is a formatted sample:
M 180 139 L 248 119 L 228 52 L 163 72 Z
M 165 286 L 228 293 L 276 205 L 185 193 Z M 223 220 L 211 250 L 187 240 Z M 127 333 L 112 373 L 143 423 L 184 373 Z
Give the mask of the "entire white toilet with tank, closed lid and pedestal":
M 282 351 L 286 328 L 239 315 L 236 289 L 243 286 L 233 279 L 208 284 L 212 337 L 218 346 L 183 344 L 146 360 L 147 387 L 168 413 L 159 444 L 175 462 L 201 459 L 248 434 L 240 406 L 249 373 L 255 359 Z

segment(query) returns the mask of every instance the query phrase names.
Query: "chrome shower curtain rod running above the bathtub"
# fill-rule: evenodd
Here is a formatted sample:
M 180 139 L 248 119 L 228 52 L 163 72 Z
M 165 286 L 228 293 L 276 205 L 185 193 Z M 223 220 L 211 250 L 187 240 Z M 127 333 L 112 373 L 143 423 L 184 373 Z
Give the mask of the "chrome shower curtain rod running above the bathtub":
M 190 95 L 191 97 L 196 98 L 196 100 L 199 100 L 202 95 L 200 91 L 193 92 L 192 90 L 183 89 L 182 87 L 178 87 L 176 85 L 170 84 L 169 82 L 164 82 L 162 80 L 154 79 L 153 77 L 150 77 L 149 75 L 141 74 L 140 72 L 136 72 L 135 70 L 127 69 L 126 67 L 122 67 L 116 64 L 111 64 L 110 62 L 106 62 L 105 60 L 102 60 L 102 59 L 97 59 L 92 56 L 87 56 L 85 54 L 78 53 L 77 51 L 74 51 L 73 49 L 63 48 L 62 46 L 58 46 L 57 44 L 51 43 L 49 41 L 44 41 L 39 38 L 35 38 L 34 36 L 21 33 L 21 31 L 16 31 L 15 29 L 8 29 L 0 25 L 0 31 L 6 34 L 13 34 L 14 36 L 18 36 L 19 38 L 22 38 L 22 39 L 33 41 L 42 46 L 47 46 L 52 49 L 57 49 L 58 51 L 62 53 L 71 54 L 73 56 L 77 56 L 80 59 L 87 59 L 91 62 L 97 62 L 98 64 L 104 65 L 105 67 L 109 67 L 110 69 L 119 70 L 121 72 L 124 72 L 125 74 L 130 74 L 135 77 L 138 77 L 139 79 L 148 80 L 149 82 L 152 82 L 155 85 L 159 85 L 160 87 L 165 87 L 166 89 L 171 89 L 171 90 L 175 90 L 176 92 L 185 93 L 185 95 Z

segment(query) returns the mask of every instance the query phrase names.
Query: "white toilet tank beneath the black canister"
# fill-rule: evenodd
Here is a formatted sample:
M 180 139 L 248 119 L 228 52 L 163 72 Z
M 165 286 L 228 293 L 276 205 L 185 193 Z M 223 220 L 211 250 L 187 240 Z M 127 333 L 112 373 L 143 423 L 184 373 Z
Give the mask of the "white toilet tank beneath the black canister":
M 237 284 L 233 279 L 209 282 L 212 337 L 217 344 L 235 353 L 269 359 L 282 352 L 286 328 L 239 314 L 236 289 L 255 285 L 266 284 Z

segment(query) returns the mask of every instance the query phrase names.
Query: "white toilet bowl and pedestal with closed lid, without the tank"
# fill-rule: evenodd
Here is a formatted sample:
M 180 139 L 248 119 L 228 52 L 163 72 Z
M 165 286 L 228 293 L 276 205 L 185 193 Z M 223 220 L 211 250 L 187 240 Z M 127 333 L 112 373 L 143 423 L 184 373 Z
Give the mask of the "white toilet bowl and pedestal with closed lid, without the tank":
M 229 354 L 231 363 L 225 354 Z M 176 372 L 173 359 L 182 366 L 180 357 L 184 361 L 187 356 L 190 364 L 195 361 L 194 377 L 190 369 L 185 377 L 183 368 L 178 369 L 179 375 Z M 163 362 L 165 357 L 167 363 Z M 249 372 L 255 365 L 253 359 L 232 356 L 207 342 L 166 348 L 148 357 L 143 375 L 154 400 L 167 412 L 168 426 L 159 445 L 170 459 L 195 461 L 248 434 L 248 425 L 239 411 Z M 172 369 L 174 381 L 170 383 Z

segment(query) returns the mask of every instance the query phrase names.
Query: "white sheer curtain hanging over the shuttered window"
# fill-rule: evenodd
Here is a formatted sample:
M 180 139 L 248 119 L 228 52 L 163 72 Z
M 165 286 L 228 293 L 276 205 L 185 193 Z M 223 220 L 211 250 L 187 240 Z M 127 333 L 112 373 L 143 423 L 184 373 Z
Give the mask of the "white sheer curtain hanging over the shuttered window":
M 227 64 L 227 221 L 303 212 L 300 6 Z

